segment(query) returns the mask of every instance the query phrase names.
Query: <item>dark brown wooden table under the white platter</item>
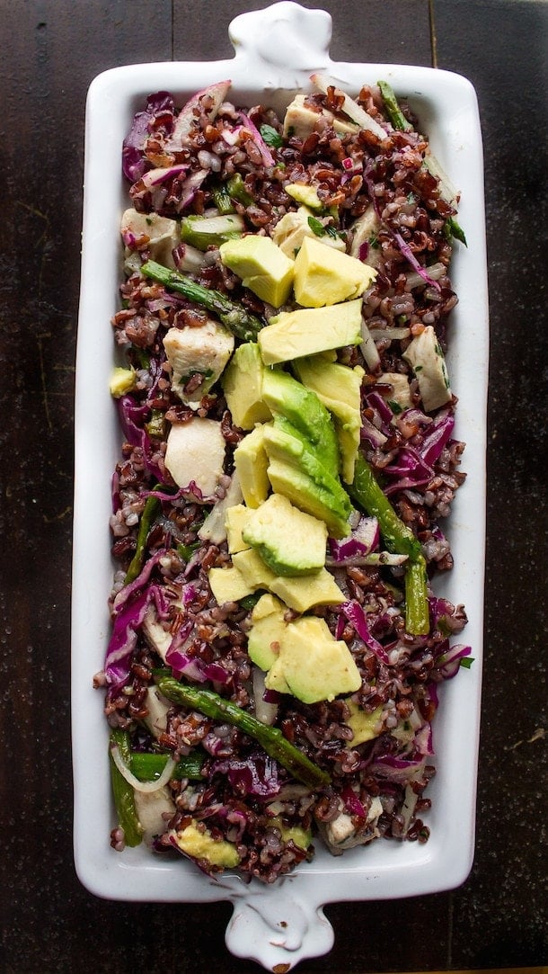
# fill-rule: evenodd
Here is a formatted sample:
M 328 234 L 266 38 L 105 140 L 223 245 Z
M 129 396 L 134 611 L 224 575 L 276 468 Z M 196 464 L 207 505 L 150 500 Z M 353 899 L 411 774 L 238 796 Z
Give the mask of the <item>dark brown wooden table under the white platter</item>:
M 321 6 L 321 0 L 307 6 Z M 0 0 L 0 902 L 6 974 L 244 974 L 225 904 L 108 903 L 72 861 L 69 606 L 85 97 L 118 64 L 231 56 L 253 0 Z M 323 3 L 335 59 L 467 76 L 491 292 L 486 658 L 475 865 L 454 892 L 327 907 L 354 974 L 539 965 L 546 939 L 548 5 Z M 470 356 L 473 368 L 473 352 Z M 544 764 L 543 764 L 544 762 Z

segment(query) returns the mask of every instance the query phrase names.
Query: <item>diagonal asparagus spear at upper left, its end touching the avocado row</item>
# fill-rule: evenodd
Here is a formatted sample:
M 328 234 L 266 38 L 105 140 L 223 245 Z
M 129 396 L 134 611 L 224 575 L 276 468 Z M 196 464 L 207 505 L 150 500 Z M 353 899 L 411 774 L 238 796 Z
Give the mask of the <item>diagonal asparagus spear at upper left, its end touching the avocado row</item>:
M 213 312 L 237 338 L 244 342 L 257 340 L 257 333 L 263 327 L 263 321 L 245 310 L 237 301 L 231 301 L 226 294 L 204 287 L 197 281 L 185 278 L 177 271 L 170 271 L 154 260 L 147 260 L 141 267 L 141 274 L 145 278 L 152 278 L 169 287 L 173 291 L 184 294 L 189 301 L 195 301 L 207 311 Z

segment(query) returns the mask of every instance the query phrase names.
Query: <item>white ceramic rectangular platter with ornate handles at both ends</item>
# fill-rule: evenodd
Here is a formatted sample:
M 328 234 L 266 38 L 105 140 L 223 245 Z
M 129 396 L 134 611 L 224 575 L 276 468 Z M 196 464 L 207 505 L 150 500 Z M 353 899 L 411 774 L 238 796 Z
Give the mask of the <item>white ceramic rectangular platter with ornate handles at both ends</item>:
M 485 447 L 488 300 L 483 159 L 474 90 L 443 71 L 393 64 L 354 64 L 329 56 L 331 18 L 283 2 L 242 14 L 230 25 L 230 60 L 167 62 L 115 68 L 91 84 L 86 125 L 82 291 L 77 354 L 74 499 L 72 714 L 74 850 L 80 880 L 97 896 L 119 900 L 229 900 L 235 911 L 227 945 L 267 969 L 289 970 L 304 957 L 327 953 L 333 930 L 322 905 L 337 900 L 413 896 L 453 888 L 470 870 L 480 723 L 485 540 Z M 109 637 L 107 598 L 112 581 L 110 479 L 120 444 L 108 392 L 114 341 L 110 319 L 122 280 L 119 221 L 127 206 L 122 141 L 147 94 L 174 94 L 176 103 L 206 85 L 231 78 L 231 100 L 283 107 L 295 90 L 310 90 L 314 70 L 329 74 L 348 94 L 386 79 L 409 98 L 435 155 L 461 191 L 458 220 L 467 248 L 457 244 L 452 267 L 459 296 L 452 313 L 448 364 L 457 393 L 457 438 L 466 442 L 465 485 L 457 494 L 448 534 L 455 569 L 437 592 L 465 604 L 464 638 L 475 662 L 441 689 L 434 722 L 437 774 L 428 789 L 432 809 L 427 843 L 380 840 L 333 858 L 316 843 L 311 864 L 266 886 L 223 875 L 203 876 L 183 858 L 166 861 L 146 847 L 123 854 L 110 848 L 114 826 L 103 694 L 92 689 Z

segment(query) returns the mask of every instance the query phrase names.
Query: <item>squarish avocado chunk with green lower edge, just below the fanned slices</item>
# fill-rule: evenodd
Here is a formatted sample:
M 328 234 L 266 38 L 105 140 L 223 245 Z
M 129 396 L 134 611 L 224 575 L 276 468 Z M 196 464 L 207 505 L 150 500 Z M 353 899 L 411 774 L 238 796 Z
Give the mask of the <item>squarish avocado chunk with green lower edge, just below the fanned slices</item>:
M 254 510 L 241 536 L 275 575 L 310 575 L 325 562 L 324 522 L 294 507 L 283 494 L 271 494 Z

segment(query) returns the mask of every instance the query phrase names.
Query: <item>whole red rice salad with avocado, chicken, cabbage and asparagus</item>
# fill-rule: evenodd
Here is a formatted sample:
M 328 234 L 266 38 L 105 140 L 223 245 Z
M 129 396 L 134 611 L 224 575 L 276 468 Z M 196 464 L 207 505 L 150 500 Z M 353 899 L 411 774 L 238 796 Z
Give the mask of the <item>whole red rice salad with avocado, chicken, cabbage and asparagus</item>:
M 315 843 L 427 841 L 471 661 L 435 592 L 457 190 L 384 81 L 311 86 L 282 115 L 229 81 L 148 97 L 112 321 L 111 845 L 268 883 Z

